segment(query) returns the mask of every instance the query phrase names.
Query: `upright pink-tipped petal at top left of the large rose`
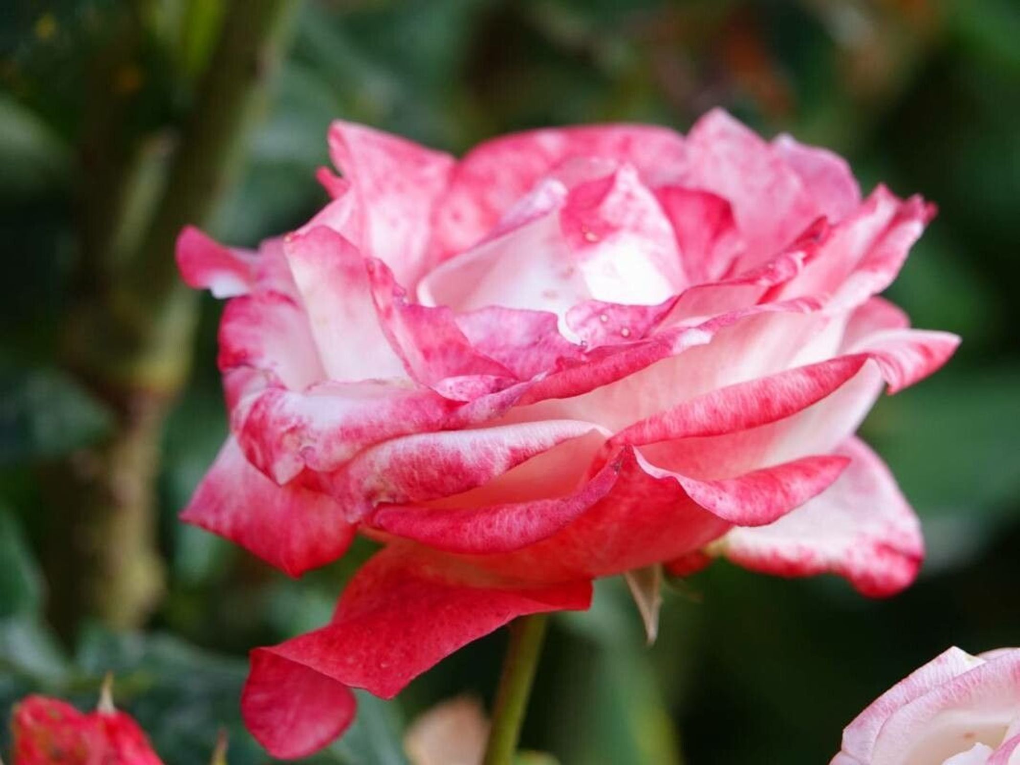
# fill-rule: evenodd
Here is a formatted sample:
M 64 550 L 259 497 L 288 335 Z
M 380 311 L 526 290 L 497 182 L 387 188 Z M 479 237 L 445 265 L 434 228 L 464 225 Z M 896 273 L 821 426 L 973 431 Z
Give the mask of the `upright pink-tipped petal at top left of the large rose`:
M 401 284 L 421 275 L 436 201 L 453 157 L 351 122 L 329 128 L 333 161 L 357 195 L 362 250 L 381 259 Z

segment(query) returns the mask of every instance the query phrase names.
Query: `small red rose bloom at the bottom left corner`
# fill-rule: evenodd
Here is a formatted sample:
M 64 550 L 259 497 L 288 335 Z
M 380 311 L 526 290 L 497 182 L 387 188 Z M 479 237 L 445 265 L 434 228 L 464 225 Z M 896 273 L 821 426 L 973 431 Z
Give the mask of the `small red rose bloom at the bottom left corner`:
M 59 699 L 30 696 L 14 707 L 14 765 L 161 765 L 124 712 L 80 712 Z

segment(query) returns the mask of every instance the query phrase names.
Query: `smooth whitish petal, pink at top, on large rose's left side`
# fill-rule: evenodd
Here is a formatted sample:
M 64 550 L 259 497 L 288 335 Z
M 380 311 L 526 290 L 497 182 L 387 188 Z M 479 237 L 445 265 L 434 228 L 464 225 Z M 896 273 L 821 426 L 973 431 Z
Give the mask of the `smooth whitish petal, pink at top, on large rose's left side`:
M 354 245 L 317 226 L 289 236 L 284 249 L 329 378 L 405 376 L 382 333 L 365 259 Z

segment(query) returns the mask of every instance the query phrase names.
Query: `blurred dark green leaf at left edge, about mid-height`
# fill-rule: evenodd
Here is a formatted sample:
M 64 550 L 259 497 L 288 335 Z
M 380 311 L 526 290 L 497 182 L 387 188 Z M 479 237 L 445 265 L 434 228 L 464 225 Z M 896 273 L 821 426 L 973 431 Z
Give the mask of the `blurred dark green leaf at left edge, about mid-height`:
M 58 457 L 113 422 L 109 409 L 55 369 L 0 372 L 0 463 Z

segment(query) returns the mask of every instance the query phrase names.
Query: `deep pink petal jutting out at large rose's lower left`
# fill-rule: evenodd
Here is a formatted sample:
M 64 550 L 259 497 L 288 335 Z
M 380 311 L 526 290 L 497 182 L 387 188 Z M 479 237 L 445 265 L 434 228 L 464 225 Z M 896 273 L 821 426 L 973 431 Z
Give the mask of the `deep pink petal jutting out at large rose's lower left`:
M 354 539 L 344 508 L 297 482 L 278 487 L 227 439 L 181 514 L 291 576 L 341 557 Z

